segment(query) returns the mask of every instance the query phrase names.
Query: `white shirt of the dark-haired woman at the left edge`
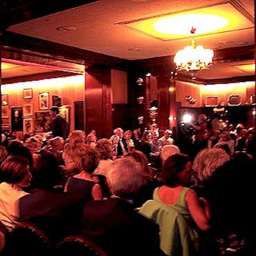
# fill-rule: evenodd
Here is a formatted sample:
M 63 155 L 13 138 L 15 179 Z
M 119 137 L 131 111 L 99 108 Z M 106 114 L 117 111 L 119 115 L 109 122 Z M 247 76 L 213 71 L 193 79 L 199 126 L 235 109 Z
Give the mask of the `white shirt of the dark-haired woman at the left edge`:
M 9 231 L 19 223 L 19 198 L 28 194 L 15 184 L 0 184 L 0 220 Z

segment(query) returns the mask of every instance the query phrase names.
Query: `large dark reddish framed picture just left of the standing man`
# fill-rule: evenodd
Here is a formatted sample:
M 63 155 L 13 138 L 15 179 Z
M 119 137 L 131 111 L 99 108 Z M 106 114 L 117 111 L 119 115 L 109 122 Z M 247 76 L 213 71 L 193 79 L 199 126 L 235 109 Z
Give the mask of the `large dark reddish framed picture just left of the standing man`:
M 35 112 L 35 132 L 52 131 L 52 115 L 51 111 Z

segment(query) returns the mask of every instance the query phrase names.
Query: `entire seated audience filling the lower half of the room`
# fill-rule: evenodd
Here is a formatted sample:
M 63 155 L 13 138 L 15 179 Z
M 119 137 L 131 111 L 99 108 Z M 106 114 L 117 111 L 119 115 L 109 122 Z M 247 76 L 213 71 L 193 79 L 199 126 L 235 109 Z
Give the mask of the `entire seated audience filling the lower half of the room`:
M 47 230 L 53 247 L 75 234 L 108 256 L 252 255 L 255 129 L 205 133 L 196 129 L 188 152 L 156 127 L 101 139 L 95 130 L 6 137 L 0 255 L 12 255 L 25 221 Z

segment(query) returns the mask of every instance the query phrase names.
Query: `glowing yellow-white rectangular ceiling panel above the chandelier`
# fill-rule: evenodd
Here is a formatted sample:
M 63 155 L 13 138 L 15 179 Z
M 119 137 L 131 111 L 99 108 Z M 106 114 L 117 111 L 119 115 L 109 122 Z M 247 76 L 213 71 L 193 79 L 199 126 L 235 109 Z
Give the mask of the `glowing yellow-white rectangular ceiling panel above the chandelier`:
M 207 19 L 202 19 L 203 14 L 208 14 L 210 16 Z M 182 20 L 180 19 L 181 15 L 184 15 L 184 19 Z M 196 19 L 196 15 L 199 15 L 198 19 Z M 215 17 L 214 19 L 216 19 L 216 15 L 224 19 L 220 20 L 220 22 L 223 22 L 222 28 L 220 28 L 221 26 L 218 24 L 218 22 L 215 22 L 217 25 L 216 28 L 211 28 L 211 31 L 209 31 L 209 28 L 214 25 L 214 22 L 209 22 L 210 18 Z M 156 24 L 157 22 L 161 22 L 163 19 L 169 19 L 171 22 L 170 30 L 173 32 L 163 33 L 157 31 Z M 188 38 L 191 36 L 190 31 L 192 26 L 196 28 L 195 37 L 203 35 L 214 35 L 218 33 L 237 31 L 254 27 L 254 24 L 230 3 L 220 4 L 207 8 L 200 8 L 196 10 L 188 10 L 179 13 L 165 13 L 163 15 L 148 17 L 145 19 L 118 22 L 118 24 L 127 26 L 127 28 L 135 29 L 140 33 L 153 36 L 164 41 Z

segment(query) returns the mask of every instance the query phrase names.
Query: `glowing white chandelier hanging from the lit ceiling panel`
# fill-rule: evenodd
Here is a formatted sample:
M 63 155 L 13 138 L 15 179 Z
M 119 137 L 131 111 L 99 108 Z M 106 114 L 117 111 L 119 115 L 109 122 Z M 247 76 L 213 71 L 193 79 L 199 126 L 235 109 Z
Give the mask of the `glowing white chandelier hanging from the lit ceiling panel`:
M 192 27 L 191 34 L 196 31 Z M 191 45 L 186 46 L 184 49 L 175 54 L 173 61 L 176 63 L 177 70 L 205 70 L 211 67 L 214 52 L 211 49 L 204 49 L 202 45 L 195 45 L 195 40 L 191 40 Z

